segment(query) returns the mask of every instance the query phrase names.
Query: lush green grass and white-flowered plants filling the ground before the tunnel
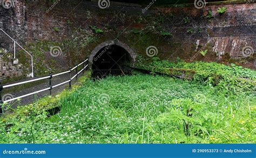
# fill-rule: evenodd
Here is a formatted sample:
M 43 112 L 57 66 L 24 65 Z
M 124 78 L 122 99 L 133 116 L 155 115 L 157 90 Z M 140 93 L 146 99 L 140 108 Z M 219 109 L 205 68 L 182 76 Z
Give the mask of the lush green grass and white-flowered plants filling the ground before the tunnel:
M 0 120 L 0 143 L 255 143 L 255 94 L 222 92 L 159 75 L 89 80 L 56 115 Z

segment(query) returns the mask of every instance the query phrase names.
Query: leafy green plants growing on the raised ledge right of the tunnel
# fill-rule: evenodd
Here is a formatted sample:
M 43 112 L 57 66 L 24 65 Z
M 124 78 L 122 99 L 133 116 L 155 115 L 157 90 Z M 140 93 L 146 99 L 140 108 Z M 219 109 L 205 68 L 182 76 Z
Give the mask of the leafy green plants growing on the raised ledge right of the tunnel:
M 256 91 L 256 72 L 235 64 L 231 64 L 230 67 L 203 61 L 186 63 L 180 59 L 177 60 L 177 63 L 172 63 L 155 58 L 150 65 L 138 66 L 152 72 L 164 72 L 166 68 L 178 68 L 183 71 L 193 70 L 196 72 L 193 76 L 194 81 L 214 86 L 216 90 L 221 90 L 222 94 L 255 93 Z

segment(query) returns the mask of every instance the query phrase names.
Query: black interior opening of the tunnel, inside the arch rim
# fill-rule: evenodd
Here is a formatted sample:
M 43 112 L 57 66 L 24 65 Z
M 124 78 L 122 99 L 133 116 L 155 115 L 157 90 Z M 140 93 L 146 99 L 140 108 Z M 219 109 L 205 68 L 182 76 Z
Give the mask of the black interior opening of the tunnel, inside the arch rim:
M 131 56 L 121 46 L 105 46 L 93 58 L 92 75 L 104 78 L 107 75 L 130 74 Z

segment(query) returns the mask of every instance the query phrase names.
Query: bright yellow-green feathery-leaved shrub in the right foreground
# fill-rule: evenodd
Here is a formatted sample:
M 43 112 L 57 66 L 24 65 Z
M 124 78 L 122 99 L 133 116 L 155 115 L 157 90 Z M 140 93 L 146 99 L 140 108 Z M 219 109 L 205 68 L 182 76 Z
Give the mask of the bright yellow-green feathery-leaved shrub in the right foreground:
M 173 99 L 168 112 L 158 116 L 156 128 L 164 133 L 165 138 L 175 138 L 176 142 L 241 142 L 245 140 L 241 135 L 253 139 L 254 123 L 250 114 L 243 112 L 246 106 L 241 100 L 237 104 L 234 100 L 228 102 L 229 105 L 225 105 L 225 98 L 221 97 L 217 103 L 209 95 L 200 93 L 193 99 Z

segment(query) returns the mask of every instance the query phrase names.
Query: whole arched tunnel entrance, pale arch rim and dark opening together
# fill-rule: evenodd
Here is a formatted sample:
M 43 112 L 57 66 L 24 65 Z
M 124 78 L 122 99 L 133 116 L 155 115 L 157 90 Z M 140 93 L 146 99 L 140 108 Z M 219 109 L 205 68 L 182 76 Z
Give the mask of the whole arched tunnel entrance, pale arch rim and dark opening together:
M 130 74 L 135 56 L 126 44 L 110 41 L 97 46 L 89 60 L 92 76 L 103 78 L 106 75 Z

